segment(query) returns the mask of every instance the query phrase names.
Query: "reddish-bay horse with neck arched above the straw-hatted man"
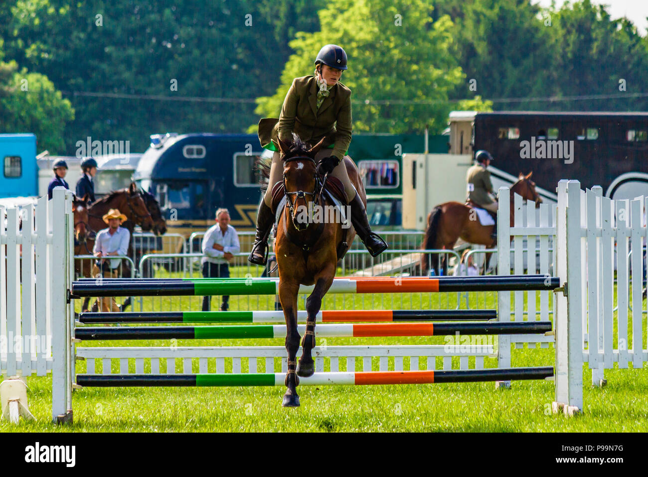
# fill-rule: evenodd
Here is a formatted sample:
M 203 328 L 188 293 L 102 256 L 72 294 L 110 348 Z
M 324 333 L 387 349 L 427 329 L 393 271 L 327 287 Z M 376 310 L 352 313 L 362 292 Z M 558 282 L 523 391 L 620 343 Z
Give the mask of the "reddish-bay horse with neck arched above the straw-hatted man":
M 141 191 L 132 182 L 130 187 L 112 191 L 106 197 L 93 202 L 87 208 L 86 225 L 87 234 L 84 240 L 75 247 L 75 255 L 92 255 L 95 247 L 95 236 L 99 230 L 107 228 L 103 216 L 110 209 L 119 209 L 119 212 L 126 215 L 129 220 L 137 225 L 141 225 L 143 230 L 153 228 L 153 219 L 146 208 Z M 75 273 L 78 276 L 90 277 L 92 275 L 92 260 L 75 260 Z M 82 311 L 87 311 L 87 305 L 90 299 L 86 298 L 82 305 Z

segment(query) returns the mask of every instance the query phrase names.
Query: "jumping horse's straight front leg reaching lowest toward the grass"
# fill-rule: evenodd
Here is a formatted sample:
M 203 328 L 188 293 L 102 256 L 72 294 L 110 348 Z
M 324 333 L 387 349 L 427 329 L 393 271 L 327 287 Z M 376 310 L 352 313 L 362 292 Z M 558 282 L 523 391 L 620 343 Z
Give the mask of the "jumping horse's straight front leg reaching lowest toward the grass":
M 297 395 L 297 350 L 299 349 L 299 332 L 297 332 L 297 293 L 299 284 L 279 281 L 279 300 L 286 319 L 286 351 L 288 352 L 288 373 L 286 374 L 286 394 L 282 406 L 284 408 L 297 408 L 299 395 Z

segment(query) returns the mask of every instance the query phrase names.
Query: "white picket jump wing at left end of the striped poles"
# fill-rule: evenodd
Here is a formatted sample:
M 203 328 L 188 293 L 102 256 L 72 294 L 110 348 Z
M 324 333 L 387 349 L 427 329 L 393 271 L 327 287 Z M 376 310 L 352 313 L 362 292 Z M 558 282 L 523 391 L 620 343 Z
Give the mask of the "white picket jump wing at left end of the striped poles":
M 0 206 L 0 368 L 6 376 L 45 376 L 52 369 L 52 315 L 65 300 L 65 241 L 72 240 L 68 214 L 71 194 L 62 191 L 36 206 Z

